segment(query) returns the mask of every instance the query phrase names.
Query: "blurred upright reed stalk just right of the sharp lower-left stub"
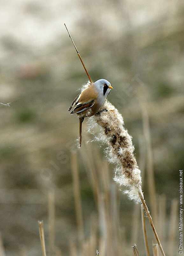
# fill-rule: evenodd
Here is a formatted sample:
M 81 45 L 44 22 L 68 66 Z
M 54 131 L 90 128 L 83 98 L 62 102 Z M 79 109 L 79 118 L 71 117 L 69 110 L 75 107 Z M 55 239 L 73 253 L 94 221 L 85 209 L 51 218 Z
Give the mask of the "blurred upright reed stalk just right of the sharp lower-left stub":
M 49 229 L 49 255 L 54 255 L 55 253 L 55 198 L 54 191 L 49 191 L 48 194 L 48 229 Z

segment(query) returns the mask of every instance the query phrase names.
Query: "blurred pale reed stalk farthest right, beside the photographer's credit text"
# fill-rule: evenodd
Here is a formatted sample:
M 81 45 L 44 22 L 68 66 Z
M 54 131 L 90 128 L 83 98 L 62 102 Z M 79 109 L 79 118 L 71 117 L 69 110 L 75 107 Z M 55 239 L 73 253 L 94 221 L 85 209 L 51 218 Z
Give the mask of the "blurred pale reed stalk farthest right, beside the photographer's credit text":
M 176 199 L 172 200 L 171 204 L 171 213 L 169 220 L 169 237 L 168 237 L 168 251 L 167 253 L 170 255 L 174 255 L 174 245 L 176 241 L 176 227 L 178 220 L 178 201 Z

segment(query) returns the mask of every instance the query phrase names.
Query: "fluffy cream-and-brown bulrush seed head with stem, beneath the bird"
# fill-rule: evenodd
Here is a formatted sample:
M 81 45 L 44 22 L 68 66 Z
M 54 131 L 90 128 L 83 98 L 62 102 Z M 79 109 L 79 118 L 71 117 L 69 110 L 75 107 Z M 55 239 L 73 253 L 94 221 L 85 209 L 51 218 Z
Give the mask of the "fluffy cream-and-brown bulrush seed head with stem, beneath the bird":
M 84 88 L 89 85 L 90 83 L 85 85 Z M 96 125 L 101 127 L 99 136 L 97 136 L 96 139 L 108 145 L 106 153 L 109 157 L 109 161 L 116 164 L 115 181 L 119 185 L 124 185 L 128 188 L 124 193 L 126 193 L 130 199 L 134 200 L 136 203 L 142 202 L 159 244 L 160 251 L 162 255 L 165 256 L 152 217 L 145 203 L 140 170 L 133 154 L 134 147 L 132 145 L 131 136 L 127 130 L 124 129 L 123 117 L 108 100 L 105 100 L 99 112 L 95 116 L 89 117 L 88 122 L 89 131 L 91 132 L 93 132 L 93 128 Z

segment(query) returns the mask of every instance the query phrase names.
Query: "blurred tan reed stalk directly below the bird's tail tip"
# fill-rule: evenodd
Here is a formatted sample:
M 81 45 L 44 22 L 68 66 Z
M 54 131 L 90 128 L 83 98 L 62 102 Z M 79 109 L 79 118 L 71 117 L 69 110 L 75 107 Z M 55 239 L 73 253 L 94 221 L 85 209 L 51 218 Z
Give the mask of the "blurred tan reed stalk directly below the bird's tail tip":
M 82 217 L 82 204 L 81 204 L 81 194 L 80 194 L 80 183 L 79 183 L 79 172 L 77 167 L 77 155 L 76 152 L 71 154 L 72 162 L 72 177 L 73 177 L 73 188 L 74 188 L 74 201 L 75 201 L 75 212 L 77 219 L 78 237 L 79 241 L 82 243 L 84 241 L 84 225 Z

